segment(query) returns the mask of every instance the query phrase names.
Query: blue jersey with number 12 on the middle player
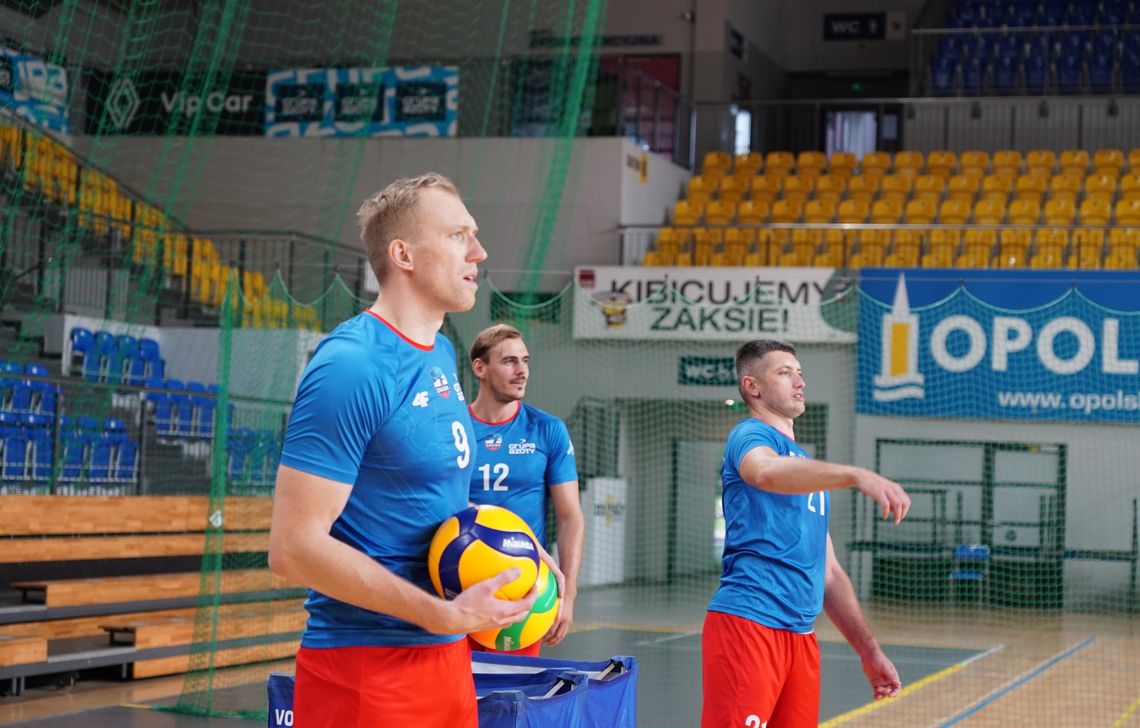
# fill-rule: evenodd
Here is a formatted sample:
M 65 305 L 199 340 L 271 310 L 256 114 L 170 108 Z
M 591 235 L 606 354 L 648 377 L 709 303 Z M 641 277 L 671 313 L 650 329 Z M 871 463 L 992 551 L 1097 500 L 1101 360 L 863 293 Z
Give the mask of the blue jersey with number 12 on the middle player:
M 546 489 L 578 480 L 567 426 L 523 402 L 505 422 L 486 423 L 474 415 L 472 420 L 475 469 L 471 473 L 471 500 L 514 512 L 546 548 Z

